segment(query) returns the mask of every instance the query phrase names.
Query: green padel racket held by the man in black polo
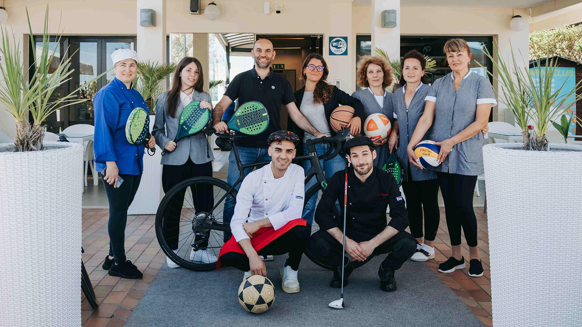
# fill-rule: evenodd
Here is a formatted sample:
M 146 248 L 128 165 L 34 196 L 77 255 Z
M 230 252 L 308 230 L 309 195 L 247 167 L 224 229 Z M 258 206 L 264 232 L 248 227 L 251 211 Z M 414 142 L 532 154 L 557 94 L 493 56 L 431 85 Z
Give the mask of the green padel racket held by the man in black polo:
M 269 126 L 269 113 L 261 102 L 244 102 L 226 122 L 226 126 L 229 130 L 240 131 L 246 135 L 258 135 Z M 214 133 L 214 129 L 209 132 Z

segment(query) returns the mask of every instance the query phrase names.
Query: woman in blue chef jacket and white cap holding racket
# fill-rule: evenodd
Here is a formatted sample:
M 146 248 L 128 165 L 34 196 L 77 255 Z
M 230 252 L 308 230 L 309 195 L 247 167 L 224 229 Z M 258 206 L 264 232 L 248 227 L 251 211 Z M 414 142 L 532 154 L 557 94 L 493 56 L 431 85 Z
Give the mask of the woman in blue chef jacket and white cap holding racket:
M 103 172 L 105 193 L 109 201 L 109 255 L 102 268 L 109 275 L 121 278 L 141 278 L 136 265 L 125 257 L 125 225 L 127 208 L 136 195 L 143 172 L 143 144 L 131 144 L 125 137 L 125 125 L 134 108 L 148 111 L 141 94 L 132 88 L 137 73 L 137 52 L 117 49 L 111 54 L 115 78 L 102 87 L 95 98 L 95 163 Z M 154 137 L 147 147 L 153 148 Z M 105 171 L 103 171 L 105 170 Z M 118 187 L 118 177 L 123 183 Z

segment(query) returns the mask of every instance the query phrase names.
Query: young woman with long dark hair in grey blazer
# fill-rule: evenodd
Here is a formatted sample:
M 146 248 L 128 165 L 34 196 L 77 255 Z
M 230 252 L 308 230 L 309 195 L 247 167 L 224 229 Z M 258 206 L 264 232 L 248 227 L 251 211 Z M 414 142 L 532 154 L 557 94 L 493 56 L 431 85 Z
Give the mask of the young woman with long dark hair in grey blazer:
M 155 122 L 152 134 L 164 147 L 166 154 L 162 157 L 162 187 L 168 192 L 184 179 L 195 176 L 212 176 L 212 150 L 204 133 L 183 138 L 179 143 L 173 140 L 178 133 L 180 115 L 190 102 L 200 101 L 201 108 L 212 110 L 210 94 L 203 91 L 204 74 L 200 61 L 184 57 L 176 66 L 172 88 L 159 95 L 155 103 Z M 196 213 L 208 211 L 214 205 L 212 188 L 204 187 L 192 192 L 191 204 Z M 184 193 L 176 194 L 168 204 L 164 216 L 164 237 L 175 253 L 178 253 L 180 211 L 184 202 Z M 186 200 L 189 204 L 190 201 Z M 207 250 L 208 244 L 198 244 L 190 250 L 190 260 L 205 264 L 216 262 L 216 256 Z M 186 260 L 186 258 L 184 258 Z M 179 265 L 169 258 L 166 263 L 171 268 Z

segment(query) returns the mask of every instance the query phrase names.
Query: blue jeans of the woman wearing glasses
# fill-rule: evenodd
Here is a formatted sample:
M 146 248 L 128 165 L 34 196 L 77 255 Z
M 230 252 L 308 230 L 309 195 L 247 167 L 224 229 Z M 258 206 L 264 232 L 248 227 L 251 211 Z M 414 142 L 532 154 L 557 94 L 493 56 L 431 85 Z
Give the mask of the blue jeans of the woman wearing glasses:
M 315 144 L 315 151 L 317 151 L 317 155 L 324 155 L 325 152 L 327 152 L 328 150 L 329 150 L 328 143 Z M 308 154 L 306 143 L 303 143 L 303 154 Z M 320 165 L 324 169 L 325 179 L 328 179 L 339 170 L 343 170 L 346 168 L 346 159 L 342 158 L 342 156 L 338 154 L 335 157 L 329 159 L 328 161 L 320 160 Z M 309 170 L 310 168 L 311 162 L 307 160 L 303 161 L 303 169 L 305 170 L 306 174 L 307 170 Z M 311 177 L 309 182 L 305 185 L 305 191 L 307 192 L 307 190 L 311 186 L 313 186 L 316 182 L 317 179 L 315 179 L 315 176 Z M 317 204 L 317 194 L 315 194 L 313 197 L 309 199 L 309 201 L 305 205 L 305 208 L 303 209 L 303 219 L 307 221 L 307 225 L 309 226 L 311 226 L 311 224 L 313 223 L 313 215 L 315 214 L 316 204 Z

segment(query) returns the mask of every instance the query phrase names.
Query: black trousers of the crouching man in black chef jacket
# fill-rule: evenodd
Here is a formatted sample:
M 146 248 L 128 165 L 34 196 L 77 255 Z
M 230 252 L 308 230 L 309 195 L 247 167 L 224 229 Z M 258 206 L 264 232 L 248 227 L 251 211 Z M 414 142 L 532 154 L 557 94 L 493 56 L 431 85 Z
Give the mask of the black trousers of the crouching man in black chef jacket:
M 368 237 L 371 240 L 374 236 Z M 382 261 L 384 268 L 392 268 L 394 270 L 400 267 L 409 260 L 416 251 L 416 240 L 408 232 L 398 232 L 394 237 L 385 241 L 378 246 L 372 255 L 366 261 L 354 261 L 354 267 L 359 267 L 370 261 L 374 255 L 386 254 L 388 256 Z M 327 232 L 327 230 L 318 230 L 313 235 L 307 247 L 309 251 L 317 260 L 324 262 L 331 266 L 342 265 L 342 244 Z M 346 262 L 347 262 L 346 253 Z

